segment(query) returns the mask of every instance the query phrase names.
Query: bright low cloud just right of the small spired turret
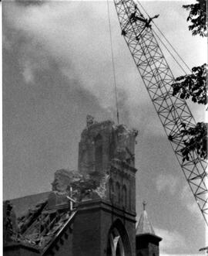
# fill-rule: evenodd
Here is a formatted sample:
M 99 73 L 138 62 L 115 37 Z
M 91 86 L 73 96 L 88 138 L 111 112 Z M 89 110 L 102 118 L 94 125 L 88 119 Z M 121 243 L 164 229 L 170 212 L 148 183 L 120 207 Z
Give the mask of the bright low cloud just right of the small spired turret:
M 156 234 L 163 238 L 160 242 L 160 254 L 171 254 L 172 251 L 185 248 L 186 239 L 178 231 L 164 230 L 160 228 L 155 228 Z

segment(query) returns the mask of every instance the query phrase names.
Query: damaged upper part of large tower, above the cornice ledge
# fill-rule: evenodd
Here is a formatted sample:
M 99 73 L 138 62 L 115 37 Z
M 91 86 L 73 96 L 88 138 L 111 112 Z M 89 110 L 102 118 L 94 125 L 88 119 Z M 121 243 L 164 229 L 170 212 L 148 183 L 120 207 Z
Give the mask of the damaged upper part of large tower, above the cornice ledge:
M 79 172 L 101 180 L 109 175 L 106 199 L 135 211 L 135 143 L 138 131 L 87 116 L 79 142 Z M 134 174 L 133 174 L 134 173 Z

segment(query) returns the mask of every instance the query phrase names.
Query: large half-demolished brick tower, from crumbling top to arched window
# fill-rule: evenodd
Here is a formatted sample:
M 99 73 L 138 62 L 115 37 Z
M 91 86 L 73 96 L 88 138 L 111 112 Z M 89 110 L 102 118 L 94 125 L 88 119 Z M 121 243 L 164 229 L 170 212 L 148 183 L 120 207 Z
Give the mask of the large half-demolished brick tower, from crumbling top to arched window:
M 136 135 L 124 125 L 88 116 L 79 142 L 79 172 L 104 192 L 79 203 L 73 255 L 136 255 Z

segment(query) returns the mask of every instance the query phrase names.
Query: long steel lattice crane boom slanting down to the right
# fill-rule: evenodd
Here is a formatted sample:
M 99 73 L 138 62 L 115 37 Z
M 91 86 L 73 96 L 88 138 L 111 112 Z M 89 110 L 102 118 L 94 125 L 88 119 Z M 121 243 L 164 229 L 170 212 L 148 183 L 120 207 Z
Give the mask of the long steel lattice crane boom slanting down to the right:
M 122 36 L 126 40 L 179 165 L 208 225 L 207 164 L 205 160 L 200 159 L 197 152 L 192 152 L 190 159 L 183 161 L 181 149 L 184 148 L 184 141 L 188 137 L 181 134 L 181 124 L 191 128 L 195 127 L 196 121 L 186 101 L 173 96 L 172 84 L 175 79 L 150 25 L 158 15 L 145 19 L 133 0 L 114 0 L 114 4 Z

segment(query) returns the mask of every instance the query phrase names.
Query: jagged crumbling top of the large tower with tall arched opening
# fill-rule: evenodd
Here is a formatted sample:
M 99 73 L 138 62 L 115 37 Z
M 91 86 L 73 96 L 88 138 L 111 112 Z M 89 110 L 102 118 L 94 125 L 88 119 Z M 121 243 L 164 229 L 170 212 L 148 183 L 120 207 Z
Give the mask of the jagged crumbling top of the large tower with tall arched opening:
M 134 167 L 134 151 L 138 131 L 113 121 L 97 122 L 88 115 L 86 128 L 79 142 L 79 172 L 104 172 L 112 159 L 119 159 Z

